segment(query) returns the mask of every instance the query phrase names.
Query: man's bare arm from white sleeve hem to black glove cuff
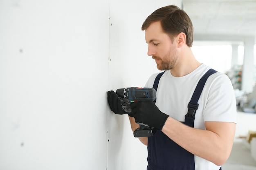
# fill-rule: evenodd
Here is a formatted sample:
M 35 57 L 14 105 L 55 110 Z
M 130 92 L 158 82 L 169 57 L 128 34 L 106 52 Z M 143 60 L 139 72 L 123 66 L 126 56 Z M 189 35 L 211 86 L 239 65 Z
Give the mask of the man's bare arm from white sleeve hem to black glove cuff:
M 211 126 L 207 126 L 210 124 Z M 212 130 L 211 127 L 222 128 Z M 235 124 L 228 122 L 206 122 L 207 130 L 191 128 L 168 117 L 162 131 L 182 148 L 207 159 L 216 165 L 222 165 L 228 159 L 235 132 Z M 226 128 L 224 130 L 224 128 Z M 224 132 L 221 132 L 220 130 Z

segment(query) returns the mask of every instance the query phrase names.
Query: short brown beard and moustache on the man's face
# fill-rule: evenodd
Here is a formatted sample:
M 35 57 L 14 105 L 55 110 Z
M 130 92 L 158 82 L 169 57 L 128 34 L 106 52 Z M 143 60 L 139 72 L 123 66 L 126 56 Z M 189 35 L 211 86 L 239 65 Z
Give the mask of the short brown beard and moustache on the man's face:
M 161 71 L 171 70 L 175 67 L 177 60 L 178 60 L 178 53 L 177 51 L 168 51 L 164 57 L 158 57 L 156 55 L 152 56 L 153 59 L 160 60 L 160 63 L 157 64 L 157 69 Z

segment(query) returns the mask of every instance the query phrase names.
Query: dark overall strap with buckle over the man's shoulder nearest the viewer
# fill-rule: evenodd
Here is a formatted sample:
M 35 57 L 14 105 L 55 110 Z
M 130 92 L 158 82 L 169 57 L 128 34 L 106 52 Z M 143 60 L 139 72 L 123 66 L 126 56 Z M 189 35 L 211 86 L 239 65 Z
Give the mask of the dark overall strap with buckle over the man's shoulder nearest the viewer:
M 188 113 L 185 116 L 185 124 L 190 126 L 190 127 L 194 127 L 194 120 L 195 120 L 195 112 L 198 109 L 198 99 L 202 93 L 202 90 L 204 88 L 204 84 L 206 82 L 206 80 L 208 79 L 208 77 L 210 75 L 212 75 L 213 73 L 216 73 L 217 71 L 210 69 L 209 71 L 207 71 L 207 73 L 205 73 L 203 75 L 203 77 L 201 77 L 201 79 L 198 82 L 198 85 L 195 88 L 195 91 L 191 97 L 191 100 L 188 104 Z

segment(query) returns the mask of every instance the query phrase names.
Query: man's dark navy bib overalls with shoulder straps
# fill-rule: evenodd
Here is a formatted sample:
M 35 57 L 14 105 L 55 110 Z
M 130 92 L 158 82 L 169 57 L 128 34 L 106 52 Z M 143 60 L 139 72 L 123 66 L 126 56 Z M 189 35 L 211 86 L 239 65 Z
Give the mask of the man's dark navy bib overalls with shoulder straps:
M 159 73 L 155 79 L 153 85 L 155 90 L 157 90 L 159 79 L 163 73 L 164 72 Z M 189 109 L 185 116 L 185 121 L 182 123 L 190 127 L 194 127 L 195 112 L 198 108 L 198 99 L 202 93 L 202 89 L 207 78 L 213 73 L 216 73 L 216 71 L 210 69 L 198 82 L 191 101 L 189 102 Z M 157 130 L 152 137 L 148 137 L 147 170 L 195 170 L 194 155 L 176 144 L 161 130 Z

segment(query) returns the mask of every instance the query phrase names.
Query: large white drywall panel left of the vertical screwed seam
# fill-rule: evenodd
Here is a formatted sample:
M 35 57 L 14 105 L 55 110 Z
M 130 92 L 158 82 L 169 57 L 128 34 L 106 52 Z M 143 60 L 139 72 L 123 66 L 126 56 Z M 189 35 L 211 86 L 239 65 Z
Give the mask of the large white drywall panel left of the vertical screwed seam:
M 0 170 L 106 170 L 109 1 L 0 1 Z

